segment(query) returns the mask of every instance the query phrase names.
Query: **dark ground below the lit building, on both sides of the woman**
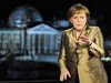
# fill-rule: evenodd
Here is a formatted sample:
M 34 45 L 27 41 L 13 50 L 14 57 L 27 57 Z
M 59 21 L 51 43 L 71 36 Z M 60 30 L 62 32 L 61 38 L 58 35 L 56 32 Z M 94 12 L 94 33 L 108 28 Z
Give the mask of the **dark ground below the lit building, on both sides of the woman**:
M 111 83 L 111 62 L 103 62 Z M 60 83 L 59 66 L 53 61 L 20 61 L 9 59 L 0 62 L 0 83 Z

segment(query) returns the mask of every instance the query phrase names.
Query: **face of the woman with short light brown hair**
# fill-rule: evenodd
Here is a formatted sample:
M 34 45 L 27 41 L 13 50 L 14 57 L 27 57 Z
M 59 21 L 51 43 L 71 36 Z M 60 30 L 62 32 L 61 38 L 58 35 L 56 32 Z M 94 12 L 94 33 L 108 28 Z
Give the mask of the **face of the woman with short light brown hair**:
M 87 24 L 87 15 L 83 10 L 77 11 L 71 18 L 70 22 L 75 30 L 81 31 Z

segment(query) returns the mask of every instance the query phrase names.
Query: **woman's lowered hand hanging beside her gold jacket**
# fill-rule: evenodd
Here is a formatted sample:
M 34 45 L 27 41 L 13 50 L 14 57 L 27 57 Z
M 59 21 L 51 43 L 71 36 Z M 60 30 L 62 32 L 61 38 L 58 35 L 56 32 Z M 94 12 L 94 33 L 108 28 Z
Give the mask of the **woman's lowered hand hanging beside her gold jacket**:
M 67 80 L 67 76 L 71 77 L 70 72 L 67 68 L 61 68 L 60 81 Z

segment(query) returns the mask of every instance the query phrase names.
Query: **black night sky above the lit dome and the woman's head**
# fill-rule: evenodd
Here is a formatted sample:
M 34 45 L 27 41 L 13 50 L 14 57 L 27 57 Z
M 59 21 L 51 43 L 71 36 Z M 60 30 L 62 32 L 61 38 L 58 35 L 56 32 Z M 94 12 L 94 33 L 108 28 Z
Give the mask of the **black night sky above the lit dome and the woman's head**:
M 19 6 L 34 7 L 44 20 L 52 20 L 53 17 L 67 19 L 67 10 L 77 2 L 87 6 L 91 18 L 98 19 L 98 24 L 103 27 L 103 32 L 111 34 L 111 0 L 0 0 L 0 21 L 7 22 L 10 13 Z

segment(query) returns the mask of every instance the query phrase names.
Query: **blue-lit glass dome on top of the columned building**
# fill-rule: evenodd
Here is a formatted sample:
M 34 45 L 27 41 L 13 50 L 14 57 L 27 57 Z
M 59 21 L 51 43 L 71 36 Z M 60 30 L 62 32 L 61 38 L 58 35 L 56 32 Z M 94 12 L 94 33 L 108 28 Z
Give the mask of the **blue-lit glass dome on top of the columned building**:
M 33 22 L 42 22 L 42 17 L 34 8 L 22 6 L 14 9 L 9 15 L 9 27 L 26 28 Z

